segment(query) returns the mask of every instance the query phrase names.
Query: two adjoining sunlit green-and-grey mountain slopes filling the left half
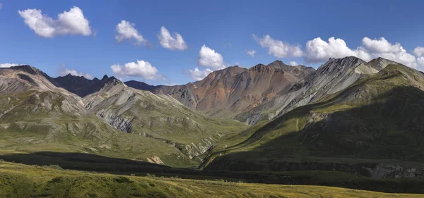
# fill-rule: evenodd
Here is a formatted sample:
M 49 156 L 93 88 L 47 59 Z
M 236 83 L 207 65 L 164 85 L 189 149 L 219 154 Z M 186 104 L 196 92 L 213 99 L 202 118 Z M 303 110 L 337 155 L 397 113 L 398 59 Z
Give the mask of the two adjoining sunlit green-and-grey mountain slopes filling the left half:
M 94 93 L 81 98 L 58 84 Z M 30 66 L 1 68 L 0 93 L 1 152 L 87 152 L 194 166 L 213 142 L 246 128 L 107 76 L 49 78 Z

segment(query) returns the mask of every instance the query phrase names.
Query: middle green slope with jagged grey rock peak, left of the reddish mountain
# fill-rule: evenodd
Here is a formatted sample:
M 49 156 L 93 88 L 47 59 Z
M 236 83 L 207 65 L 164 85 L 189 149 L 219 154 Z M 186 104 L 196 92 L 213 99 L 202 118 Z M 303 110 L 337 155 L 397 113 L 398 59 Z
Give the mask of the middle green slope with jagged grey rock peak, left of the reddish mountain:
M 115 78 L 83 101 L 88 111 L 114 128 L 165 141 L 190 159 L 203 154 L 220 137 L 246 128 L 235 120 L 204 116 L 168 95 L 133 89 Z

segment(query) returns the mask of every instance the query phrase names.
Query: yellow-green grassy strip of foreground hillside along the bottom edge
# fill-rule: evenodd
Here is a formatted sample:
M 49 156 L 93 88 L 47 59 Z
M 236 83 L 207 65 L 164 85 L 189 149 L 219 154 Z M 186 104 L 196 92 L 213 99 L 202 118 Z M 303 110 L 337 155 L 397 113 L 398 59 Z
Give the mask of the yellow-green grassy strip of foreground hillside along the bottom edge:
M 64 171 L 0 161 L 0 197 L 424 197 L 337 187 L 264 185 Z

